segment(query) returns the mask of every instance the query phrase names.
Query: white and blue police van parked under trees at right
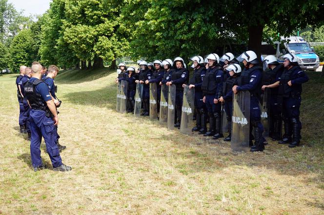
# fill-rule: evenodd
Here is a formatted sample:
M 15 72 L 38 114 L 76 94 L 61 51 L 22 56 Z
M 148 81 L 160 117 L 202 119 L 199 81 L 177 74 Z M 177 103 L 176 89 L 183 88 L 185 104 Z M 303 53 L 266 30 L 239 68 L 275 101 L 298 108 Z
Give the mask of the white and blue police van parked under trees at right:
M 301 36 L 290 36 L 289 38 L 281 37 L 281 41 L 286 40 L 283 44 L 281 42 L 274 42 L 275 48 L 273 45 L 270 45 L 266 42 L 262 42 L 262 57 L 272 54 L 275 55 L 279 63 L 283 63 L 283 55 L 287 53 L 296 54 L 298 57 L 298 64 L 303 70 L 313 70 L 320 66 L 320 58 L 315 54 L 312 47 L 309 43 L 306 42 Z

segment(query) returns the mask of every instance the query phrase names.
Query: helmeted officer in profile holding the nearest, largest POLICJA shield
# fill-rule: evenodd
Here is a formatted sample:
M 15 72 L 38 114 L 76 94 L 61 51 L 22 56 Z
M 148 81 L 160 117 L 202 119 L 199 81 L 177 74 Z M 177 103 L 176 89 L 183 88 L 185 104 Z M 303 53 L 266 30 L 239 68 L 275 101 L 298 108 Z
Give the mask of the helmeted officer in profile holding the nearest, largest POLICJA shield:
M 238 93 L 241 90 L 249 90 L 250 92 L 250 122 L 254 128 L 255 145 L 251 147 L 251 152 L 263 151 L 263 125 L 261 124 L 261 110 L 259 107 L 259 96 L 261 94 L 262 84 L 262 67 L 258 66 L 259 60 L 253 51 L 243 52 L 238 58 L 243 62 L 244 70 L 239 78 L 238 86 L 233 87 L 233 92 Z M 252 129 L 251 127 L 251 129 Z M 250 130 L 251 130 L 250 129 Z M 250 140 L 252 134 L 250 134 Z M 251 141 L 250 141 L 251 142 Z

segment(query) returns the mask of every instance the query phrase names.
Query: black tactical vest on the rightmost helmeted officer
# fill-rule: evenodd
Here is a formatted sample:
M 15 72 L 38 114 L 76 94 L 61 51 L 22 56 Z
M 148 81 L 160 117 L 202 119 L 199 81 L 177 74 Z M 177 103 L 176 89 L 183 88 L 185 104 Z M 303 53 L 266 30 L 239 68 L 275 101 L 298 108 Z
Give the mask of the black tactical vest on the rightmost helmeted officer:
M 279 90 L 278 94 L 283 97 L 295 97 L 300 96 L 302 93 L 302 88 L 289 87 L 288 82 L 292 80 L 292 73 L 295 70 L 302 70 L 299 66 L 294 66 L 290 70 L 284 70 L 283 74 L 280 76 Z

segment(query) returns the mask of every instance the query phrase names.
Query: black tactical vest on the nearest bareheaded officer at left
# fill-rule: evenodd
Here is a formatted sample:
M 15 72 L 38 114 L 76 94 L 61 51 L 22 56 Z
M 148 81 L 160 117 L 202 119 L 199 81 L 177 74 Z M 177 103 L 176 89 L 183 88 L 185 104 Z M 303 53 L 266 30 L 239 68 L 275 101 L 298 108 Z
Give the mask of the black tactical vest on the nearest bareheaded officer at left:
M 46 102 L 44 102 L 44 100 L 42 99 L 41 94 L 36 92 L 36 86 L 42 82 L 43 81 L 39 79 L 36 79 L 32 83 L 28 81 L 24 86 L 24 90 L 25 95 L 29 101 L 29 105 L 32 109 L 46 111 L 49 110 Z

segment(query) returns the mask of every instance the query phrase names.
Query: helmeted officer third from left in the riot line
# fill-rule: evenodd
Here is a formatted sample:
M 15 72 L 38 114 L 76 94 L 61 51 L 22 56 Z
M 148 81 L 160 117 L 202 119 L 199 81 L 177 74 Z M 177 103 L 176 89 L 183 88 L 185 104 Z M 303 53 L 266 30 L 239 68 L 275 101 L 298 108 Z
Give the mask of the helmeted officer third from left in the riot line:
M 139 80 L 136 80 L 136 83 L 143 85 L 143 113 L 142 116 L 149 116 L 150 110 L 150 86 L 146 80 L 151 79 L 152 71 L 148 69 L 148 64 L 145 60 L 140 63 L 140 74 Z M 146 84 L 147 83 L 147 84 Z

